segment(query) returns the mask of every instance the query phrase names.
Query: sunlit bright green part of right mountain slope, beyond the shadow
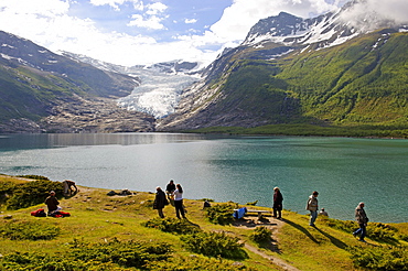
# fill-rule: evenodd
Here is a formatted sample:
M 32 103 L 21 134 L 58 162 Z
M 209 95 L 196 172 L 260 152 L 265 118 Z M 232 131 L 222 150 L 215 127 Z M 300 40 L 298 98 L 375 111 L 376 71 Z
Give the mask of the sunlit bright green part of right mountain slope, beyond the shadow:
M 335 124 L 408 124 L 408 34 L 376 32 L 286 58 L 277 76 L 304 116 Z

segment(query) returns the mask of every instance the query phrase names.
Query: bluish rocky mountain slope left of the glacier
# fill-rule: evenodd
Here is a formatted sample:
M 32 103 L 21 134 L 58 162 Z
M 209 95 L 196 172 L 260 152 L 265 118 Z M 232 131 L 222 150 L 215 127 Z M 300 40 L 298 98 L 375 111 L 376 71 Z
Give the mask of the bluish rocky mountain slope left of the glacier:
M 154 129 L 151 116 L 128 112 L 115 102 L 139 86 L 138 78 L 98 69 L 1 31 L 0 44 L 0 132 Z M 95 116 L 100 129 L 84 126 Z

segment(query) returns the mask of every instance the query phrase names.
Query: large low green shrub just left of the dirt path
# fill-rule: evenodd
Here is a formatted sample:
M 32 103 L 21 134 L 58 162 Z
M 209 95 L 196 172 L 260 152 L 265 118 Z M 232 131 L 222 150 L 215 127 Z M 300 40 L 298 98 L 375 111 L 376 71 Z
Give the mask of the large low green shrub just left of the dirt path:
M 208 257 L 222 257 L 227 259 L 245 259 L 246 253 L 241 249 L 237 237 L 227 236 L 225 232 L 198 232 L 181 237 L 184 247 L 189 250 Z

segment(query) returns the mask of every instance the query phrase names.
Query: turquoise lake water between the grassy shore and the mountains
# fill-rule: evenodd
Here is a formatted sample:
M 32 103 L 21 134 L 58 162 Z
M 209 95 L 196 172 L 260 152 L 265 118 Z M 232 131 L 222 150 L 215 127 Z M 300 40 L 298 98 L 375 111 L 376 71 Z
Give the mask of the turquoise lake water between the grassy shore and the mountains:
M 154 192 L 172 178 L 184 197 L 258 200 L 308 214 L 320 207 L 354 219 L 365 202 L 372 221 L 408 221 L 408 141 L 393 139 L 228 137 L 174 133 L 0 136 L 0 173 L 36 174 L 53 181 L 109 189 Z

